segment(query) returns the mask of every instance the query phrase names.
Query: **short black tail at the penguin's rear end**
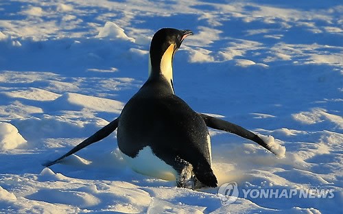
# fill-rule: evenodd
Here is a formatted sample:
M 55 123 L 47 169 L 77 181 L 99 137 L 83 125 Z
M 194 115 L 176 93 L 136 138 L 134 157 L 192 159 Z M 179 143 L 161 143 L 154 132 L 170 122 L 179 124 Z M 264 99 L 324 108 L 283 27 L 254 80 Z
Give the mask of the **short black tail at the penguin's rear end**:
M 205 161 L 205 163 L 198 163 L 196 167 L 193 166 L 193 172 L 202 185 L 205 185 L 206 187 L 217 187 L 217 178 L 215 177 L 215 174 L 213 174 L 211 165 L 209 165 L 207 161 Z

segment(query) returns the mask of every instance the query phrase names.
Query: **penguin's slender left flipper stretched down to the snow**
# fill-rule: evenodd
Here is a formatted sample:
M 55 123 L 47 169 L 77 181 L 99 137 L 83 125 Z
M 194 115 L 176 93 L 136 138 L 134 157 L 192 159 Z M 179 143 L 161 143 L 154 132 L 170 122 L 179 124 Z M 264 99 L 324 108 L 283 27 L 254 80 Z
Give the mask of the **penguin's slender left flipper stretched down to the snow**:
M 66 158 L 67 156 L 74 154 L 75 152 L 78 152 L 79 150 L 82 150 L 84 147 L 104 139 L 106 136 L 110 135 L 110 133 L 114 132 L 117 129 L 118 122 L 119 122 L 119 117 L 117 117 L 117 119 L 115 119 L 114 121 L 108 123 L 108 125 L 106 125 L 101 130 L 95 132 L 95 134 L 88 137 L 88 139 L 82 141 L 80 144 L 73 147 L 73 149 L 71 149 L 69 152 L 67 152 L 67 154 L 60 156 L 60 158 L 57 158 L 54 161 L 47 162 L 47 163 L 43 164 L 43 166 L 49 167 L 51 165 L 54 165 L 54 164 L 60 162 L 63 158 Z

